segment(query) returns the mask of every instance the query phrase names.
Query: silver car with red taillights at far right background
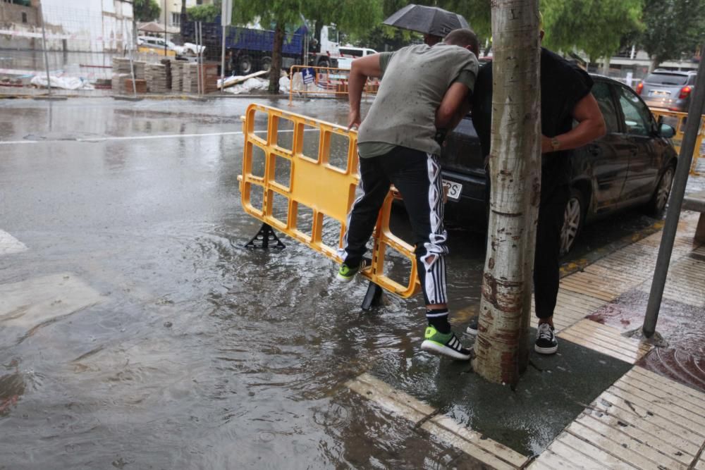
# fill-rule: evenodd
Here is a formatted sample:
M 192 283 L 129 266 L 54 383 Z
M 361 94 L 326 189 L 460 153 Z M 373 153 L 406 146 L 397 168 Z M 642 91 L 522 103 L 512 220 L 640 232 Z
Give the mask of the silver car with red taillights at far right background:
M 657 68 L 637 85 L 637 93 L 649 106 L 687 112 L 696 75 L 695 71 L 677 72 Z

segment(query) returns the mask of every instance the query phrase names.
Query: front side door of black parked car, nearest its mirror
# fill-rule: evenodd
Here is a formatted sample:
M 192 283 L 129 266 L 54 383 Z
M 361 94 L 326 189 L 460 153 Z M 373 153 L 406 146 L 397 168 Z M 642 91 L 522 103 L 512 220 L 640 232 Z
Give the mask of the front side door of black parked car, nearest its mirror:
M 616 91 L 630 148 L 625 202 L 635 203 L 651 197 L 658 179 L 658 152 L 652 148 L 656 123 L 649 108 L 635 92 L 624 85 L 617 86 Z

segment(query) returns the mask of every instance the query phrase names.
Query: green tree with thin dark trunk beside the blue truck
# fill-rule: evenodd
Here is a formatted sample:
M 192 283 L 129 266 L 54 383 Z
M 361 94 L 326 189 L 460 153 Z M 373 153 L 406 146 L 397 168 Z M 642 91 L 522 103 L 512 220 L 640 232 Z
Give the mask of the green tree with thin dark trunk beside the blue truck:
M 246 24 L 255 18 L 263 25 L 274 24 L 274 47 L 271 54 L 269 92 L 279 92 L 281 50 L 287 24 L 300 24 L 302 15 L 324 23 L 336 23 L 353 34 L 381 22 L 381 5 L 377 0 L 270 0 L 233 1 L 233 23 Z

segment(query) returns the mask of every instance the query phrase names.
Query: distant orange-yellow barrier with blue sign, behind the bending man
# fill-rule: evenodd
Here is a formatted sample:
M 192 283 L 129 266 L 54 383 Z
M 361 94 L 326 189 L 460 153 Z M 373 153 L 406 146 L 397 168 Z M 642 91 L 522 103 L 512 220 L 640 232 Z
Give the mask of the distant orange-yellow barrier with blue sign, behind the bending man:
M 302 70 L 313 70 L 313 81 L 304 83 Z M 295 94 L 311 95 L 316 97 L 347 97 L 348 81 L 350 80 L 350 70 L 346 68 L 333 67 L 309 67 L 291 66 L 289 70 L 291 84 L 289 87 L 289 104 L 292 103 Z M 379 88 L 379 80 L 368 80 L 362 89 L 363 96 L 376 94 Z

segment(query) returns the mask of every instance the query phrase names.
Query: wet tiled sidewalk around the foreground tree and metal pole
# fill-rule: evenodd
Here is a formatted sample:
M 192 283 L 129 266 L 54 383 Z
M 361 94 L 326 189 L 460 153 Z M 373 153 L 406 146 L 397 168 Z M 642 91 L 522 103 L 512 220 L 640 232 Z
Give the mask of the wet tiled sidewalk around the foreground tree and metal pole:
M 497 469 L 705 470 L 705 246 L 681 214 L 654 347 L 642 326 L 661 232 L 560 282 L 553 357 L 532 354 L 517 390 L 416 354 L 400 377 L 377 364 L 348 388 Z M 532 327 L 535 327 L 532 312 Z M 471 462 L 471 463 L 468 463 Z

